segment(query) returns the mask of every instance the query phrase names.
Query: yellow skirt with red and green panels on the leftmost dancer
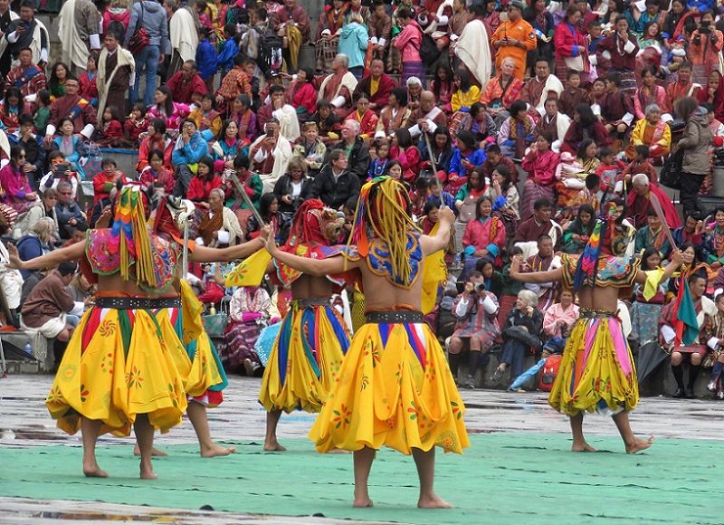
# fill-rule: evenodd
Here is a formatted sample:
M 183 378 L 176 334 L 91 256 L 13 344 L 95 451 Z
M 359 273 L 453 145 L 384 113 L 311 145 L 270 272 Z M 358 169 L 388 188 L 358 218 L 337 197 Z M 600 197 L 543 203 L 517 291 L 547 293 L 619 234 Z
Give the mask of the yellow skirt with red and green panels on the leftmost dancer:
M 129 435 L 138 414 L 167 432 L 186 411 L 188 370 L 176 367 L 178 351 L 167 346 L 148 310 L 88 310 L 65 349 L 45 405 L 68 434 L 78 432 L 81 415 L 102 421 L 101 434 Z M 184 366 L 183 359 L 177 362 Z

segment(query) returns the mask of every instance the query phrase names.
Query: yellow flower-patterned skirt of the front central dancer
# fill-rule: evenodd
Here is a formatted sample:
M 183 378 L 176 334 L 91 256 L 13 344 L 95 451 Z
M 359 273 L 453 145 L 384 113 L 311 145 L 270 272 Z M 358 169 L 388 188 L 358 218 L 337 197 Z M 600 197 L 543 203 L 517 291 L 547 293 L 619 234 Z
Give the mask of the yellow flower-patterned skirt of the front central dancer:
M 334 390 L 310 430 L 319 452 L 383 445 L 401 453 L 470 446 L 465 406 L 425 323 L 367 323 L 355 333 Z

